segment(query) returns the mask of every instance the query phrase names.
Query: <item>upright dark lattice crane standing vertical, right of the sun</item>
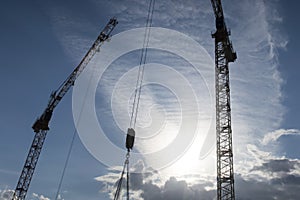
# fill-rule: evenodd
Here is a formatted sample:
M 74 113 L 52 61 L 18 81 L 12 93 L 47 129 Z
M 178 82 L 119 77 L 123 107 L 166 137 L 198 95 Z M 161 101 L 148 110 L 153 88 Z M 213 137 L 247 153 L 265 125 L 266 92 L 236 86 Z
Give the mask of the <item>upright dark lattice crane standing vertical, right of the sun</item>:
M 216 86 L 216 136 L 217 136 L 217 199 L 235 199 L 229 68 L 237 58 L 227 30 L 221 0 L 211 0 L 216 18 L 215 86 Z

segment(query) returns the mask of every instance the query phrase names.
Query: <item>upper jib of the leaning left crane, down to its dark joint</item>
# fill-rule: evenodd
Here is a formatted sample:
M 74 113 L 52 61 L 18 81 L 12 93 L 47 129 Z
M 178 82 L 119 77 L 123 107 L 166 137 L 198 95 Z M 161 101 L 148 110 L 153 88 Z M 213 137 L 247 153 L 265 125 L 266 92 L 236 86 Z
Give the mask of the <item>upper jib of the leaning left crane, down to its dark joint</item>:
M 74 85 L 75 80 L 80 75 L 80 73 L 88 65 L 89 61 L 93 58 L 95 53 L 99 50 L 100 46 L 106 41 L 109 37 L 115 26 L 117 25 L 117 20 L 115 18 L 110 19 L 105 28 L 101 31 L 100 35 L 93 43 L 92 47 L 83 57 L 79 65 L 74 69 L 74 71 L 69 75 L 69 77 L 63 82 L 63 84 L 53 92 L 50 96 L 48 106 L 43 112 L 43 114 L 35 121 L 32 128 L 34 132 L 38 133 L 40 130 L 49 130 L 48 124 L 52 117 L 52 112 L 65 94 L 69 91 L 71 86 Z

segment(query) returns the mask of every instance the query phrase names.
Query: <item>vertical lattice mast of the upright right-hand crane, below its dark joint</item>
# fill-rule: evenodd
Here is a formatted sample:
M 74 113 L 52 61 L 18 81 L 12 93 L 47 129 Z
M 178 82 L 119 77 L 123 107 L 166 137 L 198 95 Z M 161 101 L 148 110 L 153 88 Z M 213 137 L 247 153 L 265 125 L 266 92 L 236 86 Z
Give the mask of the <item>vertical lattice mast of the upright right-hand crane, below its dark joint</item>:
M 215 47 L 218 199 L 235 199 L 228 61 L 222 42 Z

